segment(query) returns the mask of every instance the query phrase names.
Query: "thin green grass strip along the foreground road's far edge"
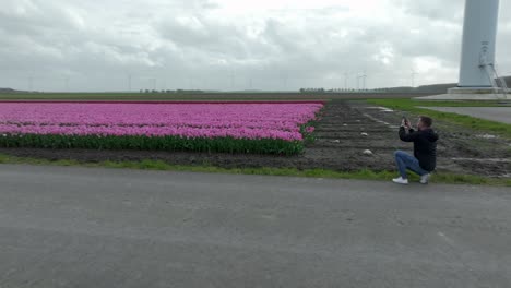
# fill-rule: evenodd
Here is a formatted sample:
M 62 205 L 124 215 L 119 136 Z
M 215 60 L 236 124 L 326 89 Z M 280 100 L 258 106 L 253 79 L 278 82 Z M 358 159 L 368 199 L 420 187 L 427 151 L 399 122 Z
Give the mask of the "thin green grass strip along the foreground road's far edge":
M 325 169 L 299 170 L 296 168 L 234 168 L 226 169 L 214 166 L 182 166 L 173 165 L 162 160 L 142 160 L 142 161 L 103 161 L 103 163 L 80 163 L 76 160 L 48 160 L 39 158 L 15 157 L 0 154 L 0 164 L 24 164 L 38 166 L 81 166 L 94 168 L 117 168 L 117 169 L 140 169 L 158 171 L 189 171 L 206 173 L 234 173 L 234 175 L 263 175 L 263 176 L 286 176 L 286 177 L 309 177 L 309 178 L 330 178 L 330 179 L 356 179 L 356 180 L 377 180 L 389 181 L 396 176 L 395 171 L 334 171 Z M 411 177 L 412 181 L 418 181 L 417 176 Z M 488 178 L 470 175 L 438 173 L 432 178 L 433 183 L 445 184 L 476 184 L 476 185 L 504 185 L 511 187 L 511 179 Z

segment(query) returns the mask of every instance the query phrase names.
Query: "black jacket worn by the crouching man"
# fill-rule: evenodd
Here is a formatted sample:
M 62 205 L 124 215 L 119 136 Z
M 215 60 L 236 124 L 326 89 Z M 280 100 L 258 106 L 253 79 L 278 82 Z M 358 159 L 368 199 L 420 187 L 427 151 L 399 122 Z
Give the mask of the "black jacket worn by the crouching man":
M 414 131 L 408 133 L 404 127 L 400 129 L 400 139 L 404 142 L 414 143 L 414 156 L 418 159 L 420 168 L 426 171 L 433 171 L 437 168 L 437 141 L 438 134 L 432 129 Z

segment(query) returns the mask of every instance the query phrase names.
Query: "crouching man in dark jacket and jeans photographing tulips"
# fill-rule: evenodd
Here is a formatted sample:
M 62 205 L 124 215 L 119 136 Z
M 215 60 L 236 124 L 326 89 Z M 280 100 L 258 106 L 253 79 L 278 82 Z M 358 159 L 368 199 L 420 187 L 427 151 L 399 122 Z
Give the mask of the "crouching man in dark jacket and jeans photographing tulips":
M 409 121 L 403 118 L 400 128 L 400 139 L 414 143 L 414 155 L 396 151 L 395 163 L 400 170 L 400 178 L 392 181 L 399 184 L 408 184 L 407 170 L 420 176 L 420 183 L 427 184 L 431 172 L 437 166 L 438 134 L 431 129 L 432 119 L 421 116 L 417 123 L 417 131 L 412 129 Z

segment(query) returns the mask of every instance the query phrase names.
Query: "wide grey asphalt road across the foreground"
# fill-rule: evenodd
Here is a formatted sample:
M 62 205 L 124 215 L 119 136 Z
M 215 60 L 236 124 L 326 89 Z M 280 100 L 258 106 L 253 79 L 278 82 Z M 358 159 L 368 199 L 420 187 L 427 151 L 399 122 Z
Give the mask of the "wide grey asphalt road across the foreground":
M 0 287 L 511 287 L 511 189 L 0 166 Z

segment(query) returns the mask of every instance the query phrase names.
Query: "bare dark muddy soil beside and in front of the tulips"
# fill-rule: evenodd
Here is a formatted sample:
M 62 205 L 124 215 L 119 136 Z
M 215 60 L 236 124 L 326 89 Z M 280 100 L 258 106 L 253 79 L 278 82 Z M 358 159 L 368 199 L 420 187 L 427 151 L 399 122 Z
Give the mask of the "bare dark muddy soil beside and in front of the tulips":
M 409 116 L 413 119 L 414 116 Z M 223 168 L 278 167 L 298 169 L 395 169 L 395 149 L 412 152 L 412 144 L 401 142 L 397 125 L 402 112 L 375 107 L 365 101 L 332 101 L 323 110 L 314 143 L 301 155 L 269 156 L 242 154 L 170 153 L 151 151 L 86 151 L 0 148 L 0 153 L 45 159 L 75 159 L 97 163 L 105 160 L 158 159 L 174 165 L 212 165 Z M 438 171 L 511 177 L 511 140 L 477 133 L 442 122 L 435 123 L 440 134 Z M 365 155 L 369 149 L 372 155 Z

